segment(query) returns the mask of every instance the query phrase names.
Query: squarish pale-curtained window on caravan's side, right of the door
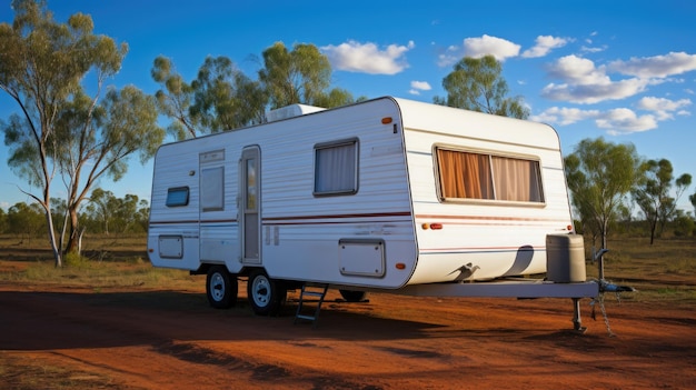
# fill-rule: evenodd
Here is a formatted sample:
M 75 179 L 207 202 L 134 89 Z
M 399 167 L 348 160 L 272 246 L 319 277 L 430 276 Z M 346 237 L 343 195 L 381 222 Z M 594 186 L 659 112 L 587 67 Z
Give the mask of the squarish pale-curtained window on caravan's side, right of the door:
M 358 192 L 358 140 L 315 146 L 315 196 Z

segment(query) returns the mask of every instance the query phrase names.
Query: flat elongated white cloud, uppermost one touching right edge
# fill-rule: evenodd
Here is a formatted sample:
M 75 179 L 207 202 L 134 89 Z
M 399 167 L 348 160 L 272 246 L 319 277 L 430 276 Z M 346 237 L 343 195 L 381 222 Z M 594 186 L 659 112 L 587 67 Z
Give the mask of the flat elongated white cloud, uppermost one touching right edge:
M 639 78 L 666 78 L 696 70 L 696 54 L 670 52 L 666 56 L 632 58 L 628 61 L 613 61 L 608 68 L 622 74 Z

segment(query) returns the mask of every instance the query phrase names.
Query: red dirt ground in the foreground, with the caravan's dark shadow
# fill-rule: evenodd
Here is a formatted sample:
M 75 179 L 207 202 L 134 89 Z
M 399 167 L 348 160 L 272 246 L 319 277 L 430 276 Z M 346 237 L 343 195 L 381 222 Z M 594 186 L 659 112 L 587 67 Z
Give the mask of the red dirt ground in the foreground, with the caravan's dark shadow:
M 297 294 L 265 318 L 241 291 L 236 308 L 215 310 L 202 290 L 0 282 L 0 388 L 696 388 L 690 307 L 608 296 L 610 337 L 589 300 L 580 334 L 565 299 L 380 293 L 347 303 L 331 291 L 312 328 L 292 323 Z

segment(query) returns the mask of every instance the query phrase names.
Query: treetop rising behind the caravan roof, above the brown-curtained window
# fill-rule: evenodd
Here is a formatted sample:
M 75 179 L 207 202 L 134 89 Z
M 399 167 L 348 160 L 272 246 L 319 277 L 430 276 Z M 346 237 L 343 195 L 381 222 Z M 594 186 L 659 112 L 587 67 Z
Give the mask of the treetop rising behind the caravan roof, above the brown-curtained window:
M 447 97 L 435 97 L 440 106 L 526 119 L 529 110 L 520 97 L 507 97 L 509 88 L 501 76 L 503 64 L 493 56 L 465 57 L 443 79 Z

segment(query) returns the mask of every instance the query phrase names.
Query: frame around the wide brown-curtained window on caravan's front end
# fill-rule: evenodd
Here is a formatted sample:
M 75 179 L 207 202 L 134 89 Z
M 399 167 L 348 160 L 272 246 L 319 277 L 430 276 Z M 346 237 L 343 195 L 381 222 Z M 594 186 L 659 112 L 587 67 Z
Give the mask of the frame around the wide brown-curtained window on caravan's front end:
M 483 156 L 487 160 L 488 174 L 490 177 L 491 188 L 493 188 L 493 198 L 456 198 L 456 197 L 445 197 L 444 188 L 443 188 L 443 172 L 440 166 L 440 159 L 438 157 L 438 150 L 451 151 L 451 152 L 461 152 L 469 153 L 476 156 Z M 496 169 L 494 168 L 493 160 L 494 158 L 503 158 L 503 159 L 513 159 L 531 163 L 535 176 L 536 176 L 536 186 L 538 187 L 538 198 L 539 200 L 504 200 L 499 199 L 499 194 L 497 193 L 498 189 L 496 188 Z M 546 207 L 546 193 L 544 186 L 544 176 L 541 169 L 541 159 L 538 156 L 531 154 L 523 154 L 523 153 L 513 153 L 513 152 L 501 152 L 494 151 L 489 149 L 474 149 L 474 148 L 461 148 L 450 144 L 434 144 L 432 146 L 432 161 L 435 168 L 435 187 L 437 192 L 438 201 L 441 203 L 480 203 L 480 204 L 499 204 L 499 206 L 524 206 L 524 207 Z M 531 184 L 530 178 L 530 184 Z

